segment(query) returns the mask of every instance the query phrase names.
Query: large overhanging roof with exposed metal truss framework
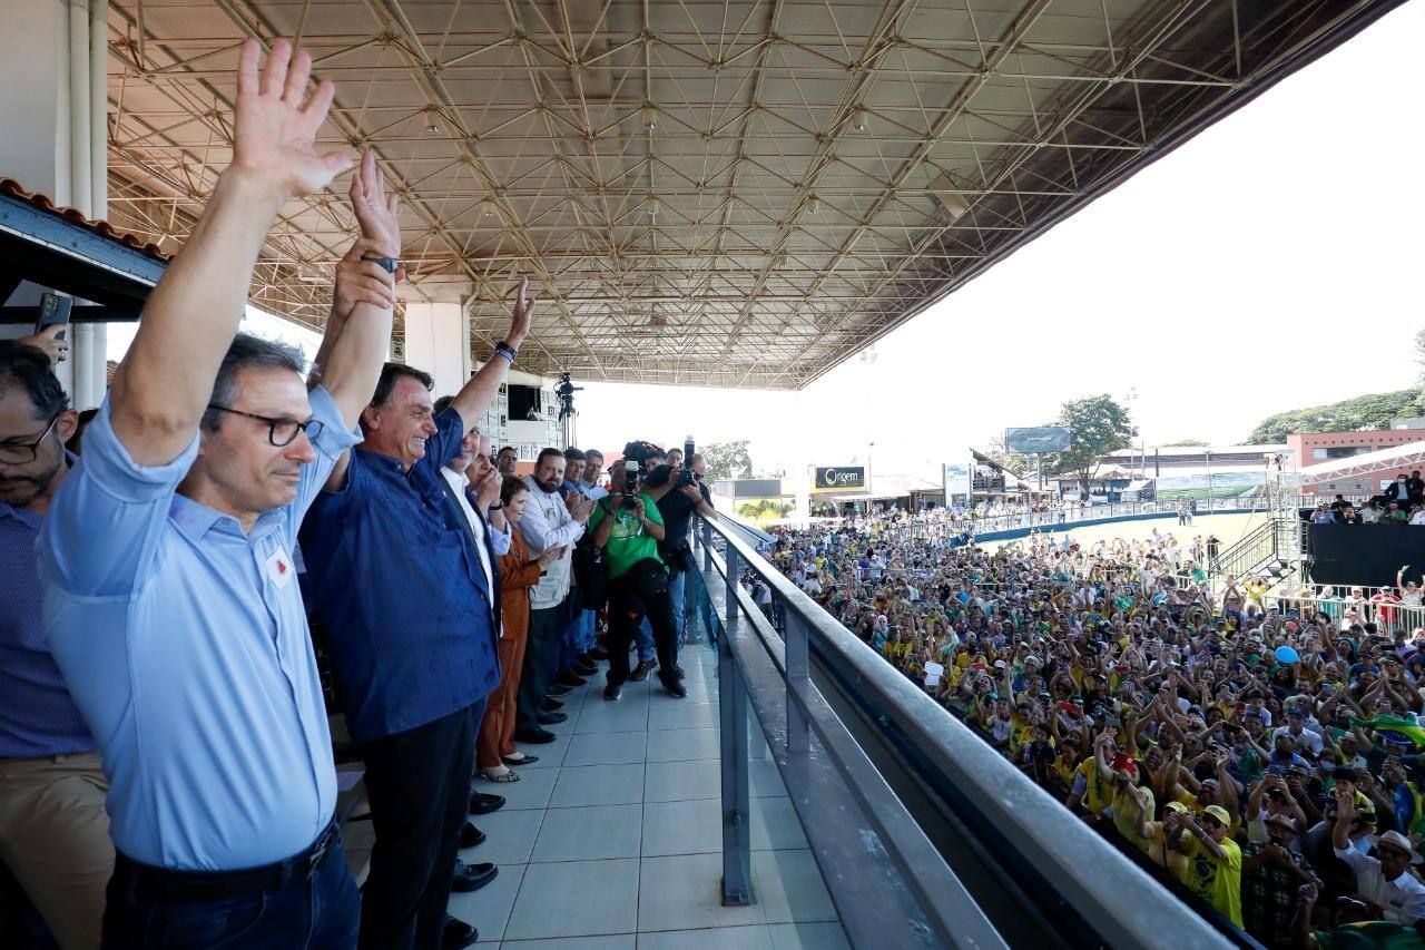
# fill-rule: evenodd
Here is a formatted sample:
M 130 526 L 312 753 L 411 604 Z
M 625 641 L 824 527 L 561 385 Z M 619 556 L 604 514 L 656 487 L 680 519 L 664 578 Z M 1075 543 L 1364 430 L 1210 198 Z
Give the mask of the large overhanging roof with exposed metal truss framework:
M 180 245 L 295 36 L 477 355 L 523 271 L 534 372 L 799 388 L 1399 1 L 114 0 L 110 218 Z M 289 204 L 252 301 L 321 325 L 352 231 Z

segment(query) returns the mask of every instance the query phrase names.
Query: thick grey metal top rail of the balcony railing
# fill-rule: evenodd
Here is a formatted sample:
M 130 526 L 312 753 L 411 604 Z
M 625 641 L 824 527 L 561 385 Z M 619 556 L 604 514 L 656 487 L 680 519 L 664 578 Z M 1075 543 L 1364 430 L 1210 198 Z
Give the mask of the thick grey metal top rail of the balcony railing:
M 1141 869 L 1082 822 L 1066 820 L 1063 806 L 980 740 L 875 650 L 851 635 L 815 601 L 734 532 L 711 522 L 738 561 L 757 573 L 785 611 L 808 625 L 817 646 L 832 653 L 888 709 L 896 725 L 972 806 L 1016 842 L 1059 889 L 1064 900 L 1112 946 L 1226 947 L 1227 940 Z M 1124 902 L 1124 894 L 1133 900 Z

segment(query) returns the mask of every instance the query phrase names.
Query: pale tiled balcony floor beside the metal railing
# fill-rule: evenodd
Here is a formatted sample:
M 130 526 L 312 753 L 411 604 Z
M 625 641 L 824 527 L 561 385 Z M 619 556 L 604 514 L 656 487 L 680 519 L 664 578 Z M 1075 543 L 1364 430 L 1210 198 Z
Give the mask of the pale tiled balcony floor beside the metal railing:
M 715 655 L 683 648 L 687 699 L 650 676 L 603 699 L 603 673 L 564 698 L 559 739 L 475 819 L 489 834 L 462 852 L 500 876 L 453 894 L 480 946 L 570 950 L 838 950 L 836 910 L 807 850 L 767 747 L 752 737 L 752 876 L 758 900 L 722 907 Z

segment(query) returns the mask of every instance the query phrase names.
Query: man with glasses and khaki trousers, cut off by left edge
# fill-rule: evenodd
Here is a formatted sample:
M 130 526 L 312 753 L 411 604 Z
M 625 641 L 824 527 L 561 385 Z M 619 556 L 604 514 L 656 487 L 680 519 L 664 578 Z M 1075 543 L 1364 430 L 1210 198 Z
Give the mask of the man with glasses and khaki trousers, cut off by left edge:
M 60 946 L 98 947 L 114 870 L 108 779 L 44 643 L 34 556 L 78 421 L 50 368 L 54 344 L 0 342 L 0 863 Z

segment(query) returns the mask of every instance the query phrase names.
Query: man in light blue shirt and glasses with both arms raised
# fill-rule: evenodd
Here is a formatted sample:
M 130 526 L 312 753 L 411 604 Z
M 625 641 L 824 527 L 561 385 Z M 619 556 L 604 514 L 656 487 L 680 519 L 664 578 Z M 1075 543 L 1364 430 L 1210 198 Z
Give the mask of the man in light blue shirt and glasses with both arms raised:
M 292 549 L 380 371 L 396 205 L 368 154 L 351 188 L 363 237 L 338 267 L 308 397 L 299 354 L 235 331 L 281 207 L 351 161 L 315 151 L 332 87 L 304 104 L 311 56 L 278 41 L 261 80 L 258 60 L 248 41 L 232 165 L 40 533 L 46 636 L 111 786 L 110 946 L 356 939 Z

